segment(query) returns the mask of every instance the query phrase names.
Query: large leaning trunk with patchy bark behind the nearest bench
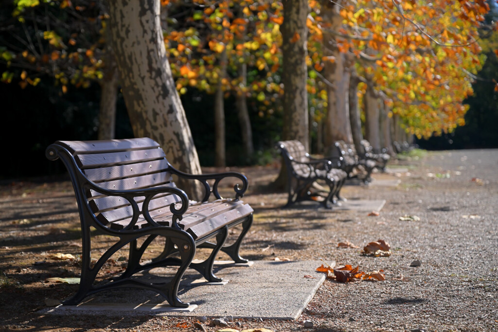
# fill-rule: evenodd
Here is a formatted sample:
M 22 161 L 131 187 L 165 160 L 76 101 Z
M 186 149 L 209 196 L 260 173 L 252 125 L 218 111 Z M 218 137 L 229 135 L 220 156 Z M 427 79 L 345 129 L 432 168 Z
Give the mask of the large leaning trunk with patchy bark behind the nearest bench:
M 108 6 L 112 48 L 134 135 L 156 140 L 180 170 L 201 173 L 166 56 L 159 0 L 108 1 Z M 181 187 L 194 198 L 201 190 L 194 181 Z

